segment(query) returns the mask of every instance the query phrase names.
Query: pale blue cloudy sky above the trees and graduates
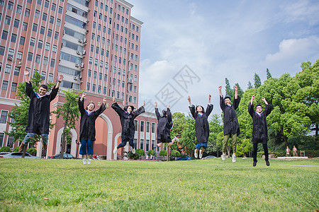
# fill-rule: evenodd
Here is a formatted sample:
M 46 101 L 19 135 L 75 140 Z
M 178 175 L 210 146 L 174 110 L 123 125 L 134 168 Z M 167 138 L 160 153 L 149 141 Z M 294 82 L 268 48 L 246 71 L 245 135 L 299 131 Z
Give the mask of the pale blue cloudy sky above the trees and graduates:
M 254 73 L 294 76 L 319 59 L 319 1 L 129 0 L 143 22 L 140 97 L 188 112 L 187 97 L 220 113 L 225 78 L 245 90 Z M 150 107 L 152 109 L 152 107 Z

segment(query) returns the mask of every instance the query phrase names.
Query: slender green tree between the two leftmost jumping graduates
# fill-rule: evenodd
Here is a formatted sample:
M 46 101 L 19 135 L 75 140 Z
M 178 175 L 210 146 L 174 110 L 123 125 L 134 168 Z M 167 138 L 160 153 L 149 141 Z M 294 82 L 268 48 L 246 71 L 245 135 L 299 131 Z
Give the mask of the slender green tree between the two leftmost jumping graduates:
M 73 90 L 62 90 L 62 93 L 65 93 L 65 103 L 62 107 L 57 107 L 57 110 L 52 112 L 57 114 L 57 119 L 62 117 L 65 121 L 61 141 L 61 159 L 63 159 L 63 154 L 65 153 L 65 141 L 67 140 L 67 136 L 71 129 L 75 129 L 75 122 L 79 119 L 79 107 L 77 104 L 79 94 L 74 93 Z

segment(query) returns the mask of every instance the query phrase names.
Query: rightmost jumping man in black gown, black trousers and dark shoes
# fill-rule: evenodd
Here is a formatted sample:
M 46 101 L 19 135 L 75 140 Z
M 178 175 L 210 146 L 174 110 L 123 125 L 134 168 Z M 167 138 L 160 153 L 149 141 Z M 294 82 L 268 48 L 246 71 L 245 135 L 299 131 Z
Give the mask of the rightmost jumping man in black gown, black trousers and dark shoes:
M 256 105 L 256 111 L 254 111 L 254 105 L 252 101 L 254 100 L 254 95 L 250 104 L 248 105 L 248 112 L 252 117 L 252 166 L 257 165 L 257 146 L 258 143 L 262 143 L 264 148 L 264 160 L 266 165 L 269 165 L 268 147 L 267 147 L 267 116 L 272 112 L 272 105 L 268 104 L 265 98 L 262 98 L 266 107 L 264 112 L 262 112 L 262 105 Z

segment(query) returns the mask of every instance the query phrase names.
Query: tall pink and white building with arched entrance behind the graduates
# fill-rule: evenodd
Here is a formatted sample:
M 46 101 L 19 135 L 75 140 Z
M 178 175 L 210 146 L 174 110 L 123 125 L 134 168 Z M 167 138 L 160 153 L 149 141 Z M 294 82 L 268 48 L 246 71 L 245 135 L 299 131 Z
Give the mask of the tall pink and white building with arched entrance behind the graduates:
M 134 107 L 139 102 L 142 22 L 130 16 L 132 8 L 123 0 L 0 0 L 0 146 L 17 145 L 3 132 L 10 130 L 8 113 L 18 103 L 17 86 L 28 68 L 31 76 L 38 71 L 43 83 L 56 83 L 62 73 L 60 88 L 84 90 L 86 103 L 93 101 L 98 107 L 107 98 L 106 111 L 96 120 L 94 153 L 116 159 L 113 148 L 121 143 L 121 123 L 111 109 L 111 99 Z M 51 111 L 63 102 L 60 92 Z M 54 115 L 51 119 L 56 125 L 50 131 L 47 155 L 60 153 L 61 148 L 63 120 Z M 155 114 L 146 112 L 135 122 L 137 148 L 154 149 Z M 67 153 L 77 155 L 78 140 L 79 122 Z M 38 145 L 38 154 L 40 149 Z

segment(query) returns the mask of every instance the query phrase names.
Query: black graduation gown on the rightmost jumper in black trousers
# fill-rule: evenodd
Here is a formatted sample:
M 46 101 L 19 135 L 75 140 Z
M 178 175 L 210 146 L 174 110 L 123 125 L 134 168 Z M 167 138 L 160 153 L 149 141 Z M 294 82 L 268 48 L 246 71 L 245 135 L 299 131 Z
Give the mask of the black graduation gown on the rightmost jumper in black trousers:
M 248 112 L 252 117 L 252 143 L 267 143 L 267 116 L 272 112 L 272 105 L 266 105 L 264 112 L 259 116 L 254 105 L 248 105 Z

